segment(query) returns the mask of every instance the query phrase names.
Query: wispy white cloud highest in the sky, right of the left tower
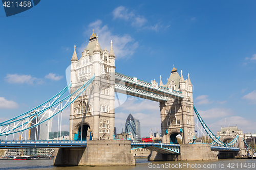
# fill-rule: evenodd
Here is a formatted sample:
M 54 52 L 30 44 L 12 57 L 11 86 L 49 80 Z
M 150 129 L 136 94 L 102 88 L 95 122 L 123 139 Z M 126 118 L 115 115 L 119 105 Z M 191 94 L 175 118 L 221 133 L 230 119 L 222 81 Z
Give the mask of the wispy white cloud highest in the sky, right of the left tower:
M 117 7 L 113 11 L 113 18 L 119 18 L 124 19 L 126 21 L 130 21 L 131 25 L 133 27 L 136 27 L 138 29 L 147 29 L 147 30 L 153 30 L 158 31 L 160 28 L 163 28 L 163 25 L 160 25 L 160 22 L 155 24 L 154 26 L 148 23 L 148 20 L 141 15 L 137 15 L 134 12 L 129 12 L 128 9 L 126 9 L 123 6 Z M 165 27 L 168 28 L 169 26 Z

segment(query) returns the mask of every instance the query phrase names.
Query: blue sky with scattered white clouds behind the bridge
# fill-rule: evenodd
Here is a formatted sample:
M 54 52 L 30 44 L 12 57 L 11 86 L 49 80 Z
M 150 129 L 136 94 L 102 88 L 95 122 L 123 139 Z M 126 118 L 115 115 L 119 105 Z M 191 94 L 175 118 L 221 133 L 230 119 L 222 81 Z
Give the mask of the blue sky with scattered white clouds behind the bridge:
M 148 82 L 161 75 L 166 84 L 175 64 L 185 79 L 189 72 L 194 104 L 214 133 L 225 119 L 255 133 L 255 7 L 255 1 L 55 0 L 10 17 L 2 7 L 0 121 L 63 89 L 74 44 L 80 54 L 94 29 L 101 48 L 109 51 L 113 40 L 117 72 Z M 129 113 L 140 119 L 142 136 L 161 129 L 156 102 L 129 98 L 115 113 L 117 132 Z M 69 110 L 64 115 L 68 130 Z

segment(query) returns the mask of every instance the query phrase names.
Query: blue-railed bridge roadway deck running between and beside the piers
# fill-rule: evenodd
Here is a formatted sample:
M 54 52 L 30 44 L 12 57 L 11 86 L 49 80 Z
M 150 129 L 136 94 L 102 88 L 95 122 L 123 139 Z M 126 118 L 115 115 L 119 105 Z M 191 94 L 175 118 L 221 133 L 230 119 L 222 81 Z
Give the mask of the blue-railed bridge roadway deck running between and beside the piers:
M 2 140 L 0 149 L 86 147 L 87 141 L 76 140 Z M 131 142 L 131 149 L 146 148 L 162 154 L 180 154 L 180 144 Z M 239 148 L 210 146 L 212 151 L 240 151 Z

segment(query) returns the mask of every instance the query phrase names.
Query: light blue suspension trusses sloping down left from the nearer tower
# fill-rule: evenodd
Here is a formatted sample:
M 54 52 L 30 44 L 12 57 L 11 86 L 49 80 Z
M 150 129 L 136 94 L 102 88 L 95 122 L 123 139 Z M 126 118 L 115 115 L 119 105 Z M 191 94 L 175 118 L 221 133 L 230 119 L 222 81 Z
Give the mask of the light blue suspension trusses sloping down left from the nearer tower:
M 7 136 L 31 129 L 46 122 L 56 114 L 62 112 L 65 108 L 72 104 L 84 90 L 86 90 L 86 88 L 93 82 L 94 77 L 95 76 L 93 76 L 72 94 L 69 94 L 63 99 L 61 99 L 61 97 L 71 87 L 71 83 L 45 103 L 26 113 L 0 123 L 0 136 Z

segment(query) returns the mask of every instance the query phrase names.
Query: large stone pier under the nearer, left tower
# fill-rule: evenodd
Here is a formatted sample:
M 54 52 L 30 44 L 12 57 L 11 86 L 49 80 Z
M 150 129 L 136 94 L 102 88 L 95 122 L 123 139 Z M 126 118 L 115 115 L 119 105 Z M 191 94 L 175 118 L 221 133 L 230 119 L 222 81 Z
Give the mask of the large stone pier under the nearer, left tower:
M 136 160 L 129 140 L 91 140 L 87 147 L 56 149 L 53 165 L 133 166 Z

